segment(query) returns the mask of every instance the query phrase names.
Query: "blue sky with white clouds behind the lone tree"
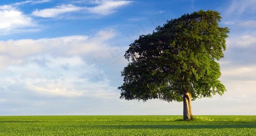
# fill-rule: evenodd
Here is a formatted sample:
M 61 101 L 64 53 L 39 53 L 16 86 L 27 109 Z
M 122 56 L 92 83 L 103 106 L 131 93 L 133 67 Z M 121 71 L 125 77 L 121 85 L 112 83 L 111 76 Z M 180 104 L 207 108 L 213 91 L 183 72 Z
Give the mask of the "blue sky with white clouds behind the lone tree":
M 229 27 L 224 95 L 193 115 L 256 115 L 256 0 L 1 0 L 0 116 L 182 115 L 183 103 L 120 99 L 124 53 L 139 35 L 199 10 Z

